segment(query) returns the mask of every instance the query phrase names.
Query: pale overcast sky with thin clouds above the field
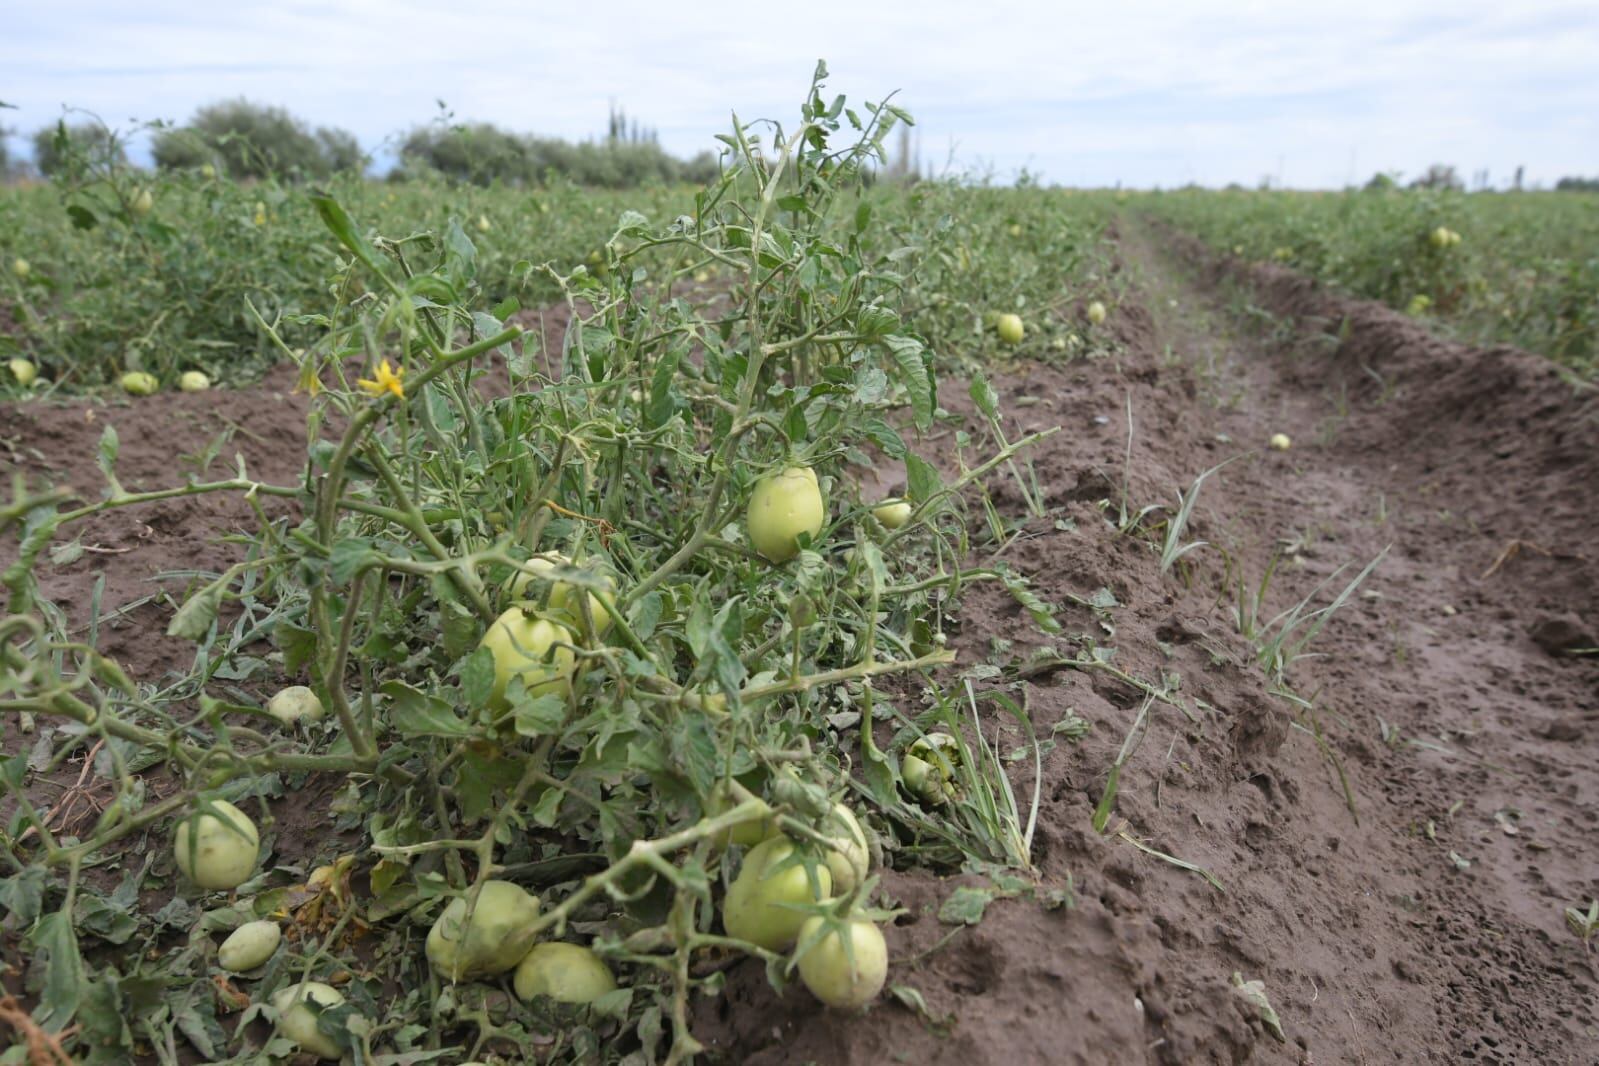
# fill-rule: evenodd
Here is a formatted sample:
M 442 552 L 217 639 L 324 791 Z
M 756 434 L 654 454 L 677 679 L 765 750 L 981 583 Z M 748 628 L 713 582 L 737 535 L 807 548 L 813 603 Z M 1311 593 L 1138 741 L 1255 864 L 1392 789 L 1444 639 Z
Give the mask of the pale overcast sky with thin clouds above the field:
M 1599 3 L 1345 0 L 13 0 L 0 125 L 112 125 L 246 96 L 385 141 L 462 120 L 588 137 L 616 101 L 678 153 L 792 118 L 817 58 L 897 89 L 942 168 L 1081 185 L 1343 185 L 1434 161 L 1599 174 Z M 13 150 L 26 152 L 22 139 Z

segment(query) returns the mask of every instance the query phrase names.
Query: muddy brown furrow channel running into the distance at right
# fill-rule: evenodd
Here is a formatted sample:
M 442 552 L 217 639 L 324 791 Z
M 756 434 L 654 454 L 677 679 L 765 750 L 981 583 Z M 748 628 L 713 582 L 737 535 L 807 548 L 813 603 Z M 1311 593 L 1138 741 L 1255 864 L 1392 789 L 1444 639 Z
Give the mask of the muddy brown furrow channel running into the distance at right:
M 1356 965 L 1327 977 L 1375 992 L 1351 1007 L 1358 1053 L 1591 1061 L 1593 959 L 1564 921 L 1599 887 L 1599 668 L 1567 654 L 1594 644 L 1591 396 L 1169 232 L 1129 225 L 1122 246 L 1196 411 L 1234 449 L 1294 440 L 1218 473 L 1199 508 L 1249 580 L 1281 553 L 1263 614 L 1322 579 L 1326 601 L 1386 551 L 1289 671 L 1361 817 L 1300 826 L 1334 890 L 1292 903 L 1350 921 Z

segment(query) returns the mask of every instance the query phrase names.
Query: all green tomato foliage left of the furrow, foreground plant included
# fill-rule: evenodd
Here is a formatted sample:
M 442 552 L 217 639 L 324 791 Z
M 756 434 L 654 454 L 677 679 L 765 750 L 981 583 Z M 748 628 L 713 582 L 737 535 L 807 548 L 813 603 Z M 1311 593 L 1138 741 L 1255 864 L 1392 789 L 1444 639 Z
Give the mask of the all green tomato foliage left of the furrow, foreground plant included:
M 30 471 L 11 484 L 0 903 L 34 959 L 24 997 L 0 999 L 13 1028 L 107 1064 L 177 1061 L 177 1045 L 281 1063 L 296 1044 L 683 1063 L 700 1048 L 692 1004 L 724 981 L 707 961 L 750 956 L 785 984 L 820 943 L 763 930 L 792 909 L 732 916 L 740 857 L 766 834 L 792 842 L 823 938 L 886 917 L 884 865 L 1070 898 L 1019 876 L 1036 774 L 1019 796 L 1014 754 L 969 729 L 982 705 L 1030 737 L 1025 706 L 940 668 L 977 583 L 1059 631 L 1020 574 L 974 563 L 1028 518 L 995 503 L 999 481 L 1043 513 L 1027 462 L 1041 433 L 1007 436 L 979 368 L 999 312 L 1028 323 L 1007 353 L 1110 350 L 1079 316 L 1111 296 L 1110 214 L 1036 189 L 873 181 L 907 120 L 817 85 L 798 123 L 737 123 L 697 189 L 106 166 L 6 190 L 5 254 L 27 268 L 0 305 L 13 358 L 38 363 L 35 403 L 131 366 L 171 388 L 193 366 L 237 384 L 277 361 L 312 396 L 286 484 L 238 460 L 125 486 L 110 419 L 99 499 Z M 550 304 L 569 326 L 542 352 L 518 315 Z M 478 388 L 486 374 L 504 395 Z M 951 387 L 971 417 L 943 409 Z M 131 403 L 118 420 L 147 401 Z M 862 471 L 891 463 L 903 507 L 884 519 L 886 487 Z M 815 518 L 776 550 L 755 503 L 796 468 Z M 133 678 L 96 644 L 101 606 L 75 619 L 35 567 L 94 516 L 206 497 L 275 505 L 230 537 L 232 566 L 168 575 L 166 634 L 193 652 Z M 289 684 L 325 713 L 277 718 Z M 929 734 L 950 740 L 915 754 Z M 38 786 L 90 751 L 106 802 L 67 831 Z M 1036 767 L 1038 745 L 1023 754 Z M 839 804 L 873 841 L 847 858 Z M 285 861 L 305 847 L 281 837 L 291 805 L 329 828 L 304 865 Z M 229 876 L 193 876 L 182 849 L 201 833 L 229 842 Z M 441 962 L 504 881 L 540 898 L 508 943 L 593 949 L 619 986 L 580 1008 L 518 1002 L 481 953 L 470 972 Z M 149 893 L 163 901 L 141 906 Z M 219 941 L 256 921 L 281 941 L 229 972 Z M 281 997 L 305 980 L 342 1002 L 294 1015 Z

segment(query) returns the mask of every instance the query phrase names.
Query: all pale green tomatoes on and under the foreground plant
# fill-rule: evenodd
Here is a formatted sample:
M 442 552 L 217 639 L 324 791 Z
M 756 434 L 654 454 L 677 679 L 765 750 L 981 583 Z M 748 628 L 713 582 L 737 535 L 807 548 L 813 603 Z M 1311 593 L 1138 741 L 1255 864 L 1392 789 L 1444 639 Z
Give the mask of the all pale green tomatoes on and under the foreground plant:
M 889 529 L 902 527 L 913 508 L 905 500 L 883 500 L 873 516 Z M 771 563 L 795 558 L 803 537 L 820 534 L 827 521 L 815 471 L 790 467 L 756 483 L 747 511 L 750 545 Z M 600 577 L 598 591 L 577 588 L 553 577 L 572 566 L 558 553 L 532 556 L 507 582 L 515 606 L 500 614 L 481 638 L 494 662 L 489 703 L 508 706 L 507 690 L 518 682 L 531 697 L 564 695 L 580 670 L 572 649 L 579 634 L 603 638 L 612 625 L 616 585 Z M 532 582 L 548 585 L 542 604 L 526 601 Z M 705 697 L 708 703 L 724 697 Z M 724 703 L 723 703 L 724 706 Z M 283 689 L 267 703 L 267 713 L 285 727 L 313 724 L 326 716 L 321 700 L 304 686 Z M 931 804 L 955 790 L 953 737 L 931 734 L 907 753 L 905 786 Z M 721 809 L 732 798 L 723 796 Z M 819 836 L 828 841 L 820 861 L 806 861 L 766 809 L 729 826 L 715 839 L 720 849 L 745 849 L 744 863 L 721 901 L 728 937 L 768 953 L 795 953 L 793 965 L 806 988 L 823 1004 L 859 1008 L 881 992 L 887 977 L 887 945 L 871 917 L 857 913 L 871 850 L 855 813 L 833 802 L 819 820 Z M 225 801 L 206 801 L 177 825 L 174 853 L 179 871 L 206 890 L 243 884 L 259 860 L 261 836 L 245 812 Z M 325 871 L 320 871 L 325 873 Z M 313 874 L 315 881 L 318 874 Z M 833 905 L 833 906 L 830 906 Z M 539 897 L 508 881 L 483 881 L 449 901 L 427 935 L 427 959 L 440 977 L 467 981 L 512 975 L 523 1000 L 548 997 L 564 1004 L 590 1004 L 617 988 L 606 961 L 592 948 L 564 941 L 539 941 Z M 281 929 L 273 921 L 254 921 L 233 930 L 217 951 L 224 970 L 249 973 L 278 949 Z M 344 1004 L 336 988 L 302 981 L 273 997 L 278 1029 L 304 1052 L 337 1058 L 341 1048 L 317 1026 L 317 1016 Z

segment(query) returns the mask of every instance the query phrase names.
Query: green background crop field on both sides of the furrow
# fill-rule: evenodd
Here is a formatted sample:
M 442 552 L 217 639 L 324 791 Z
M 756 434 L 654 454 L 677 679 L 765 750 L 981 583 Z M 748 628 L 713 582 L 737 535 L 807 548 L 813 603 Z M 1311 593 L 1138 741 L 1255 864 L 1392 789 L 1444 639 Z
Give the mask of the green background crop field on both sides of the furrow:
M 374 233 L 424 240 L 459 227 L 491 304 L 556 300 L 555 275 L 612 265 L 619 219 L 694 213 L 692 187 L 475 187 L 443 179 L 323 185 Z M 862 195 L 878 240 L 903 241 L 908 299 L 940 355 L 993 348 L 985 326 L 1020 312 L 1043 332 L 1023 353 L 1070 356 L 1081 331 L 1057 312 L 1103 280 L 1095 237 L 1116 213 L 1148 213 L 1220 254 L 1276 262 L 1390 307 L 1445 336 L 1514 344 L 1581 376 L 1599 352 L 1599 193 L 1369 190 L 1295 193 L 1182 190 L 1108 193 L 886 182 Z M 1458 241 L 1439 241 L 1441 230 Z M 235 182 L 213 168 L 147 174 L 126 168 L 88 182 L 0 187 L 0 358 L 26 356 L 37 388 L 77 390 L 150 371 L 221 382 L 257 377 L 281 358 L 257 313 L 304 347 L 341 249 L 304 187 Z M 625 264 L 635 268 L 630 259 Z M 715 264 L 672 264 L 659 284 Z M 672 273 L 676 270 L 676 273 Z M 6 379 L 3 387 L 13 387 Z

